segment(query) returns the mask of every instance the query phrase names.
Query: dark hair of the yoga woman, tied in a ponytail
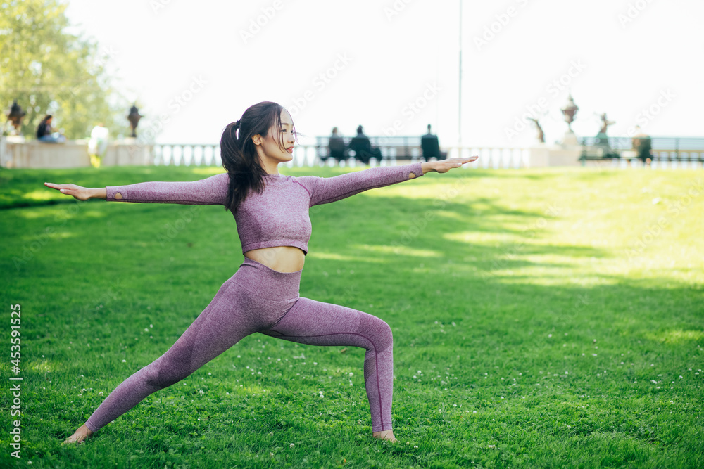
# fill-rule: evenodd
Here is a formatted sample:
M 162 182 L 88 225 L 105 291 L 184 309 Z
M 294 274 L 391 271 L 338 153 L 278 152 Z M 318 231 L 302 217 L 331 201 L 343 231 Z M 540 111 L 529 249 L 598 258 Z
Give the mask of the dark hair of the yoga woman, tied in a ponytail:
M 265 138 L 272 126 L 279 129 L 283 109 L 282 105 L 270 101 L 257 103 L 247 108 L 240 120 L 227 124 L 222 131 L 220 158 L 222 167 L 230 175 L 225 209 L 234 212 L 249 191 L 261 193 L 264 190 L 267 173 L 259 161 L 252 137 L 258 134 Z M 280 141 L 279 146 L 284 148 Z

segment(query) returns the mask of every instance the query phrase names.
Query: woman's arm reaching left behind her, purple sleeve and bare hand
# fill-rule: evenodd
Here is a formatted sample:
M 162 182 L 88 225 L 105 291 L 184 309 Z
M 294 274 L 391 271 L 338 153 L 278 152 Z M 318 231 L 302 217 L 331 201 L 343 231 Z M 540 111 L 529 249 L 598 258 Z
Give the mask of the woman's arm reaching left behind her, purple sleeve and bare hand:
M 140 182 L 127 186 L 84 188 L 75 184 L 44 185 L 77 200 L 100 198 L 115 202 L 177 203 L 187 205 L 227 205 L 227 173 L 216 174 L 200 181 Z

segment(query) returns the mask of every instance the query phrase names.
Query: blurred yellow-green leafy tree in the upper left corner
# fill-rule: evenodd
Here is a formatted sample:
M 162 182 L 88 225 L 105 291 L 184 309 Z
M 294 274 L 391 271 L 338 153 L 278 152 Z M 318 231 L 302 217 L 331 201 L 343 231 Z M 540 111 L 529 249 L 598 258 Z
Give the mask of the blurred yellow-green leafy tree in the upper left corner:
M 22 134 L 34 138 L 46 114 L 68 139 L 89 136 L 98 122 L 124 133 L 127 101 L 113 93 L 105 73 L 109 54 L 94 41 L 66 32 L 70 27 L 56 0 L 0 1 L 0 105 L 12 101 L 27 112 Z M 2 122 L 6 117 L 0 117 Z

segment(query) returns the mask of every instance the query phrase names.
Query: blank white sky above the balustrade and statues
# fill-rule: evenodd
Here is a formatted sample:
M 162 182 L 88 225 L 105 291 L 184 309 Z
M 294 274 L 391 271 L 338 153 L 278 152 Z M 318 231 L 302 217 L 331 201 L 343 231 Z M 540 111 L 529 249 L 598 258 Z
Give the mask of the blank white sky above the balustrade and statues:
M 308 136 L 419 135 L 458 142 L 460 0 L 70 0 L 73 25 L 108 53 L 125 98 L 163 143 L 218 143 L 259 101 Z M 636 124 L 702 136 L 701 0 L 463 1 L 464 145 L 527 146 L 572 128 Z M 125 110 L 125 115 L 127 110 Z M 394 128 L 394 126 L 396 128 Z

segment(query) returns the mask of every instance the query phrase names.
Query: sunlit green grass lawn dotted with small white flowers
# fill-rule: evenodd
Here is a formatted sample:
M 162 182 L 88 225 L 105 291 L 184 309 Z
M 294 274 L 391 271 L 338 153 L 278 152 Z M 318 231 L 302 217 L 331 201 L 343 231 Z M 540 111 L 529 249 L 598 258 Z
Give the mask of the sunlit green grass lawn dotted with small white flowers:
M 221 171 L 0 171 L 3 409 L 16 383 L 11 304 L 24 378 L 22 458 L 5 410 L 0 466 L 704 466 L 704 172 L 693 170 L 453 170 L 313 207 L 301 296 L 389 323 L 400 444 L 371 437 L 363 349 L 256 334 L 61 446 L 243 257 L 220 206 L 78 203 L 42 183 Z

